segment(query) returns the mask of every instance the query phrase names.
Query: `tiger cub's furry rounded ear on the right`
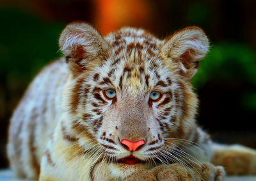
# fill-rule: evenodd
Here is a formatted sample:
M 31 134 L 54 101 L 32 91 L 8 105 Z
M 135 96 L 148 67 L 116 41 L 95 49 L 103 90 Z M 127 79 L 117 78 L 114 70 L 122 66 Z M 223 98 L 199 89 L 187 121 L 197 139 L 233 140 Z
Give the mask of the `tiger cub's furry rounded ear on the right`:
M 181 75 L 191 79 L 197 72 L 199 61 L 209 51 L 209 41 L 198 27 L 180 30 L 166 40 L 161 55 L 177 63 Z

